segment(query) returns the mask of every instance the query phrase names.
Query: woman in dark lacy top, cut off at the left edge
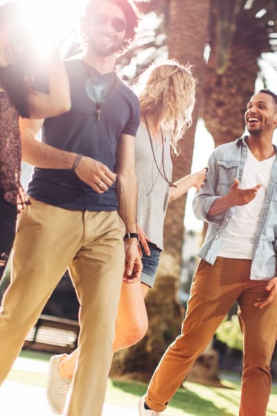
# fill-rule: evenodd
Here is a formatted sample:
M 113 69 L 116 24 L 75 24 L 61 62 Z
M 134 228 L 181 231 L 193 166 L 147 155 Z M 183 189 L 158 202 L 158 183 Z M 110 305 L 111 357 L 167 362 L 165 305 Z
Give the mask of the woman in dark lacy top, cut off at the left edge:
M 43 69 L 43 71 L 42 71 Z M 35 78 L 47 76 L 42 91 Z M 46 85 L 47 84 L 47 85 Z M 0 279 L 15 236 L 17 212 L 27 203 L 21 187 L 19 116 L 41 119 L 70 108 L 69 85 L 53 51 L 42 65 L 16 3 L 0 6 Z

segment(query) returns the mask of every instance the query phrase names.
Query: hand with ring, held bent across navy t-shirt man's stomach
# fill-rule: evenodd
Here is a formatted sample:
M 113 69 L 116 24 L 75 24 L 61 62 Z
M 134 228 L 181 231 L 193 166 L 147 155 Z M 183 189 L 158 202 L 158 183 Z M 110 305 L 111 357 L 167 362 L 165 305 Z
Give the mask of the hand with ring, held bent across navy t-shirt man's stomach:
M 116 173 L 98 160 L 82 156 L 75 173 L 97 193 L 104 193 L 116 181 Z

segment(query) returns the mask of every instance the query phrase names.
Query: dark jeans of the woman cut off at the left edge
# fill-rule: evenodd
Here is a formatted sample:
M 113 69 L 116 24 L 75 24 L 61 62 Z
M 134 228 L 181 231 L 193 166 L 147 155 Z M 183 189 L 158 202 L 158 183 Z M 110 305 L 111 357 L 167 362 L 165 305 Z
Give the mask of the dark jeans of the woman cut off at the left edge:
M 17 220 L 17 207 L 3 198 L 0 189 L 0 280 L 5 271 L 12 243 L 15 238 L 15 224 Z

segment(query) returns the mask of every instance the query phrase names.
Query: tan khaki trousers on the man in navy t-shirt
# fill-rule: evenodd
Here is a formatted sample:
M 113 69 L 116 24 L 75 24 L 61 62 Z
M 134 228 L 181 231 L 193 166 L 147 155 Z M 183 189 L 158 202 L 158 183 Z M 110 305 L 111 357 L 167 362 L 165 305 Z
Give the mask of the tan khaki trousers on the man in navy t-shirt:
M 100 416 L 124 270 L 116 211 L 69 211 L 31 198 L 19 218 L 12 281 L 0 313 L 0 383 L 69 266 L 80 301 L 78 365 L 67 416 Z

